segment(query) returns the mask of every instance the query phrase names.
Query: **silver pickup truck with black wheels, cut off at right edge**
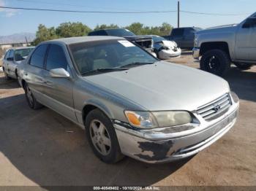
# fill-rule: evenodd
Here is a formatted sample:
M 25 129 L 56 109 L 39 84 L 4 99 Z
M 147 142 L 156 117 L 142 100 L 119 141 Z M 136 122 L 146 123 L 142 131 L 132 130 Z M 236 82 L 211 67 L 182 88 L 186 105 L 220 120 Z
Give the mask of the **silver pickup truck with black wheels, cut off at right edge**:
M 200 69 L 223 76 L 234 63 L 245 70 L 256 64 L 256 12 L 239 24 L 197 31 L 193 57 Z

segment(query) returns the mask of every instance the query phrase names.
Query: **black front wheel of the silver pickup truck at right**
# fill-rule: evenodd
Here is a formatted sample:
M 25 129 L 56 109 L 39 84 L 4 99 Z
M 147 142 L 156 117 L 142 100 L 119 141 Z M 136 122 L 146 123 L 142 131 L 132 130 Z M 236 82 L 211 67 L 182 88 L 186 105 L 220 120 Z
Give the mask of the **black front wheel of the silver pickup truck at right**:
M 208 50 L 200 60 L 200 69 L 223 76 L 230 69 L 230 58 L 223 50 Z

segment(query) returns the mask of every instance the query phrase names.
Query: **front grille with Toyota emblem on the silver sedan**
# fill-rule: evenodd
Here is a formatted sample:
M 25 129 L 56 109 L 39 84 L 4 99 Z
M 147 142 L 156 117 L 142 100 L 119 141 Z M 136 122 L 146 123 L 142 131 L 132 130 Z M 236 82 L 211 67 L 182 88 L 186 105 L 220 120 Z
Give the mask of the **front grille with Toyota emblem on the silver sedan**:
M 222 116 L 227 109 L 232 105 L 229 93 L 222 95 L 210 103 L 200 106 L 197 109 L 197 113 L 205 120 L 214 120 Z

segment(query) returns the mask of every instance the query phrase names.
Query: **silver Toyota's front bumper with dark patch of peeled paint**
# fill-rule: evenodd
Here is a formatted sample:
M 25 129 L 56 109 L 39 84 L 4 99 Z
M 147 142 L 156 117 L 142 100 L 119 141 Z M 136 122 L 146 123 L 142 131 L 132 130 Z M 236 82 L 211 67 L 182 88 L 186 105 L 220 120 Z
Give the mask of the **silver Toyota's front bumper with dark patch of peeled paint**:
M 146 163 L 165 163 L 189 157 L 213 144 L 227 133 L 236 122 L 238 103 L 213 122 L 202 122 L 200 130 L 185 130 L 183 136 L 173 136 L 169 130 L 132 130 L 114 123 L 116 135 L 124 155 Z M 193 132 L 194 131 L 194 132 Z

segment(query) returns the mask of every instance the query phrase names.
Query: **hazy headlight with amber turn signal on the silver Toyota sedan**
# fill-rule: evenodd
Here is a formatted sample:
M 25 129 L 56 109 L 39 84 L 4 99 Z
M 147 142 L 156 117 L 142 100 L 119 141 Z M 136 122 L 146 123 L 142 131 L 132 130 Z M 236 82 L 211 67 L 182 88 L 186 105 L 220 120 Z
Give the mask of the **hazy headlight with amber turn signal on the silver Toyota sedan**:
M 130 125 L 138 128 L 164 128 L 192 122 L 189 112 L 132 112 L 125 111 Z

